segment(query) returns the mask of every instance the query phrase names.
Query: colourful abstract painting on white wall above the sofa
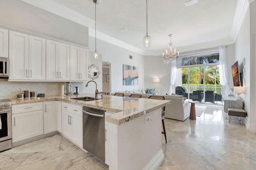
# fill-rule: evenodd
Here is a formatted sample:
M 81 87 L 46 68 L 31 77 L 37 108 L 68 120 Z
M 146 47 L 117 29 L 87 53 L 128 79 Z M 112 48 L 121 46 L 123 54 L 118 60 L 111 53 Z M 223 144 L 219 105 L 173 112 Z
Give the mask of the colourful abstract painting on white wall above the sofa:
M 138 85 L 138 67 L 123 64 L 123 85 Z

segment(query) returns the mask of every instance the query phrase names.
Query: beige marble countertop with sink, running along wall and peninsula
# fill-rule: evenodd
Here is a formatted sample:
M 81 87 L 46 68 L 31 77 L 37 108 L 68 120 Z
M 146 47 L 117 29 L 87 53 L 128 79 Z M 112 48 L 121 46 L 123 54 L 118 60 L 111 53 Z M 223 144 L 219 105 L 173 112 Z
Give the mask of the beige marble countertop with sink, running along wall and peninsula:
M 75 105 L 81 105 L 86 107 L 92 107 L 100 109 L 113 114 L 106 116 L 106 121 L 121 125 L 136 117 L 140 117 L 147 113 L 150 113 L 156 109 L 170 105 L 170 100 L 154 100 L 154 99 L 136 99 L 132 97 L 119 97 L 113 95 L 103 95 L 103 99 L 94 101 L 79 101 L 71 99 L 75 97 L 94 97 L 94 94 L 83 93 L 79 95 L 65 95 L 65 96 L 46 96 L 46 97 L 34 97 L 30 99 L 10 99 L 12 105 L 22 103 L 33 103 L 42 101 L 64 101 Z M 99 96 L 100 97 L 100 96 Z

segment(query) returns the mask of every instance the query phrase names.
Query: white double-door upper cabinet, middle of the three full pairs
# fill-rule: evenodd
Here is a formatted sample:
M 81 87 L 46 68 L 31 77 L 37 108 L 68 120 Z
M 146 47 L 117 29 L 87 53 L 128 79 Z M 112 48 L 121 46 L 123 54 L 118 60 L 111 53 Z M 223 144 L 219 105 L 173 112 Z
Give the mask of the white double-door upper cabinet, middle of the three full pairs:
M 70 45 L 46 40 L 46 80 L 70 80 Z

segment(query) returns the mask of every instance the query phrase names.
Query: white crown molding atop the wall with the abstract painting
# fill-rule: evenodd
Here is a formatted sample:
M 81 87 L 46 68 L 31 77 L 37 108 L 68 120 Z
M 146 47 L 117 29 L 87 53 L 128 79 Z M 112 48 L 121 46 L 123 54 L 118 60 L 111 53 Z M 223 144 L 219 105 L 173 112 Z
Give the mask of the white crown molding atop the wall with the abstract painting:
M 128 49 L 130 51 L 134 51 L 136 53 L 139 53 L 141 55 L 145 55 L 145 51 L 138 48 L 138 47 L 134 47 L 133 45 L 130 45 L 128 43 L 122 42 L 116 38 L 110 37 L 106 34 L 103 34 L 102 32 L 98 32 L 96 31 L 97 34 L 97 39 L 102 40 L 104 42 L 108 42 L 111 43 L 113 45 L 116 45 L 118 47 L 122 47 L 124 49 Z M 94 37 L 95 38 L 95 30 L 92 28 L 89 28 L 89 36 Z

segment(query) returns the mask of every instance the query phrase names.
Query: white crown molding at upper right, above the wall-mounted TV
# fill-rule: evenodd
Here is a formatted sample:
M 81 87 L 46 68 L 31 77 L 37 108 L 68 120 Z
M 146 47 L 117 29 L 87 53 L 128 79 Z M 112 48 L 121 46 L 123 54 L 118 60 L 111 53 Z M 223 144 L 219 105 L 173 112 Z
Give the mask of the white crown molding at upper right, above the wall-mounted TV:
M 236 40 L 236 37 L 238 36 L 238 33 L 239 33 L 242 23 L 244 21 L 244 17 L 246 15 L 248 7 L 249 7 L 248 0 L 238 0 L 235 16 L 234 16 L 234 20 L 233 20 L 233 25 L 232 25 L 232 29 L 230 32 L 230 38 L 232 38 L 234 41 Z

